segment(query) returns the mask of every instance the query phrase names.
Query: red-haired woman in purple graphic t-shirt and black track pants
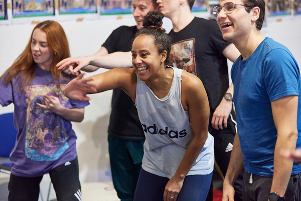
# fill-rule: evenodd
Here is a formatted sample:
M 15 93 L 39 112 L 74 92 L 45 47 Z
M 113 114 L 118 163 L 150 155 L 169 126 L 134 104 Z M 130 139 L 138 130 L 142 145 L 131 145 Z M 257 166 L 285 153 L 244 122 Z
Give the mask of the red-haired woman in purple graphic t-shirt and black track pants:
M 71 122 L 84 119 L 84 107 L 89 102 L 77 102 L 63 94 L 63 88 L 75 76 L 62 73 L 55 65 L 68 57 L 63 28 L 57 22 L 44 21 L 34 28 L 25 50 L 1 76 L 0 104 L 14 104 L 18 131 L 10 155 L 10 201 L 37 201 L 46 173 L 57 200 L 81 200 Z

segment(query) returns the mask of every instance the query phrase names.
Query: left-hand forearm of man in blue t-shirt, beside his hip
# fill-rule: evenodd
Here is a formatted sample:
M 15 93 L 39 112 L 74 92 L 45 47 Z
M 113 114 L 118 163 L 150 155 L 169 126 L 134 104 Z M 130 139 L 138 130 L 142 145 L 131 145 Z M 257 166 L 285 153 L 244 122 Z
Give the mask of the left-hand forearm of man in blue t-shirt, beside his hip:
M 230 184 L 233 186 L 242 168 L 243 168 L 243 155 L 240 148 L 238 133 L 236 133 L 233 142 L 233 149 L 230 157 L 228 170 L 224 180 L 224 185 Z

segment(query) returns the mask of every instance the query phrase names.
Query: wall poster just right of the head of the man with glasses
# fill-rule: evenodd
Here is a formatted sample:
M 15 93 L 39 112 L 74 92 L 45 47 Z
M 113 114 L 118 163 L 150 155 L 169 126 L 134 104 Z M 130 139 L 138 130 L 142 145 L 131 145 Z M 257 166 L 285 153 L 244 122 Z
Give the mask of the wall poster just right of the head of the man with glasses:
M 290 0 L 268 0 L 268 16 L 291 15 Z

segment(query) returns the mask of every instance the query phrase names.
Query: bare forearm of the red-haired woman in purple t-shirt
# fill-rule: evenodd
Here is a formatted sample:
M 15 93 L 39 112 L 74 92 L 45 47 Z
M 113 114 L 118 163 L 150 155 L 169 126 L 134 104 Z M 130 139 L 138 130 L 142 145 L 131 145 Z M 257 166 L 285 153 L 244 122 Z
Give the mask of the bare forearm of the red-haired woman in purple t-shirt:
M 81 122 L 84 119 L 84 112 L 84 108 L 68 109 L 62 107 L 62 109 L 55 113 L 69 122 Z

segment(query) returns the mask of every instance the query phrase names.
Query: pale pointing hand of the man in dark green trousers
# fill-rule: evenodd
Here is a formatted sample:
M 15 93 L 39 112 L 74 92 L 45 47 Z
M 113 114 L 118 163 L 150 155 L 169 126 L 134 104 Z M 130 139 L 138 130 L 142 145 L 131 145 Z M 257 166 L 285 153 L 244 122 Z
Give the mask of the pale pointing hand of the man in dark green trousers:
M 59 70 L 63 70 L 67 74 L 79 75 L 78 71 L 81 68 L 88 66 L 90 63 L 90 57 L 69 57 L 60 61 L 56 67 Z

